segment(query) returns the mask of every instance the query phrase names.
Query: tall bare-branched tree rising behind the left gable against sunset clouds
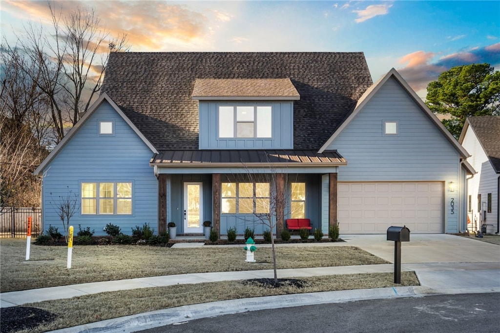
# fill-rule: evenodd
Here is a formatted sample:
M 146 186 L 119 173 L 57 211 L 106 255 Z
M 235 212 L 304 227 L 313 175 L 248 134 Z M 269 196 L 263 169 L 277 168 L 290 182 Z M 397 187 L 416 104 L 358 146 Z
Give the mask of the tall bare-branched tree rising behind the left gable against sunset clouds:
M 34 67 L 26 70 L 50 106 L 56 142 L 85 112 L 102 85 L 110 51 L 127 50 L 126 35 L 112 38 L 93 9 L 67 14 L 49 3 L 52 29 L 29 23 L 18 43 Z

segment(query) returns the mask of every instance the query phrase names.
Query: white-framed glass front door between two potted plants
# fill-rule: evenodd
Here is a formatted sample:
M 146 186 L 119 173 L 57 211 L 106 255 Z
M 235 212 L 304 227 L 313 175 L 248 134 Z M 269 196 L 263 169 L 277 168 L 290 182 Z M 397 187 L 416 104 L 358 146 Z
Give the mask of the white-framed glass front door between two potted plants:
M 184 232 L 199 233 L 203 232 L 201 225 L 202 216 L 202 195 L 201 182 L 185 182 L 184 183 Z

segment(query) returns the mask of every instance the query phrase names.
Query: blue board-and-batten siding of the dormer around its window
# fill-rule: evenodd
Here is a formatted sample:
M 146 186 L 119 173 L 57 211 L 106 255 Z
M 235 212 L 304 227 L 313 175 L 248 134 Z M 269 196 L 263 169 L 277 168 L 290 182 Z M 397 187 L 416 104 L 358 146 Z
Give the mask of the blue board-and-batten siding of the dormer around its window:
M 219 138 L 218 105 L 271 105 L 272 137 L 270 138 Z M 293 102 L 205 102 L 199 101 L 200 149 L 292 149 Z

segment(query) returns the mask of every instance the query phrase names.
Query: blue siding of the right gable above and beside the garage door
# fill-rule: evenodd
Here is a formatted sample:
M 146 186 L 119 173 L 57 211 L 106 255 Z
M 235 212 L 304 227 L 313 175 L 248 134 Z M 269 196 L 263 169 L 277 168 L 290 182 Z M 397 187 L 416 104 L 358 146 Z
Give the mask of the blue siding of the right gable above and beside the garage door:
M 384 121 L 396 121 L 397 134 L 384 135 Z M 393 77 L 327 149 L 347 160 L 338 168 L 339 182 L 443 181 L 444 232 L 458 231 L 458 190 L 449 192 L 447 184 L 460 180 L 459 153 Z

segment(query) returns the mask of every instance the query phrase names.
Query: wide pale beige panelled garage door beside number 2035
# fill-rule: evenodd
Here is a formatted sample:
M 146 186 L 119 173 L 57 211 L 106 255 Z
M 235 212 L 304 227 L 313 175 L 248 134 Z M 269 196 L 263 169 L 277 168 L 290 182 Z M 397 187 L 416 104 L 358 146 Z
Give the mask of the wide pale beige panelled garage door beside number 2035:
M 442 233 L 442 182 L 338 182 L 341 233 L 386 233 L 391 225 L 410 232 Z

